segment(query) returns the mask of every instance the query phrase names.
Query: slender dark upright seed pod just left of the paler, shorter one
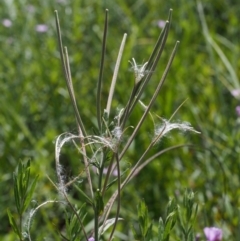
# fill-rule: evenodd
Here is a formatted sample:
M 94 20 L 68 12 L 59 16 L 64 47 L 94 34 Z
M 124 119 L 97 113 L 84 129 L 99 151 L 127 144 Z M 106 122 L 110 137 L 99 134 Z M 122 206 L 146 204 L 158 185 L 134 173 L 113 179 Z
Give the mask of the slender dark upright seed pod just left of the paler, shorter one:
M 105 24 L 104 24 L 104 32 L 103 32 L 103 43 L 102 43 L 102 56 L 101 56 L 101 64 L 99 70 L 99 79 L 97 85 L 97 121 L 98 121 L 98 129 L 101 130 L 101 92 L 102 92 L 102 78 L 103 78 L 103 66 L 106 52 L 106 43 L 107 43 L 107 31 L 108 31 L 108 9 L 105 12 Z

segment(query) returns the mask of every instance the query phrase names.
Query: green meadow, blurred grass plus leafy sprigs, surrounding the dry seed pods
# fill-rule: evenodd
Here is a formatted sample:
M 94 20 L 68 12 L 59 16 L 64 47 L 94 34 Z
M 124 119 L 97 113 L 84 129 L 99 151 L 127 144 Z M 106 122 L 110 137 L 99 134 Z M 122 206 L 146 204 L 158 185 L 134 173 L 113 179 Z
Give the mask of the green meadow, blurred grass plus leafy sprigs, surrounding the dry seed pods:
M 117 224 L 116 240 L 131 240 L 134 235 L 141 240 L 150 240 L 151 235 L 158 237 L 156 240 L 194 240 L 196 234 L 205 240 L 206 226 L 221 228 L 224 240 L 239 240 L 240 114 L 235 109 L 240 100 L 240 3 L 234 0 L 0 2 L 0 239 L 27 240 L 25 232 L 30 229 L 32 240 L 77 240 L 84 236 L 79 219 L 88 224 L 89 235 L 94 213 L 101 215 L 102 205 L 117 190 L 117 182 L 110 179 L 114 181 L 108 187 L 110 193 L 102 198 L 94 186 L 92 199 L 82 156 L 73 142 L 62 147 L 62 169 L 60 175 L 55 172 L 57 137 L 62 133 L 78 135 L 79 129 L 64 82 L 54 10 L 59 14 L 63 44 L 68 47 L 82 122 L 88 134 L 98 135 L 96 130 L 104 127 L 107 132 L 112 128 L 105 123 L 99 125 L 96 111 L 106 8 L 109 20 L 101 116 L 119 47 L 127 33 L 109 120 L 119 115 L 131 95 L 136 79 L 132 58 L 142 65 L 149 60 L 169 9 L 173 9 L 162 56 L 141 96 L 142 105 L 136 105 L 125 123 L 124 141 L 133 132 L 131 125 L 135 128 L 142 117 L 143 105 L 150 102 L 176 41 L 180 41 L 151 115 L 147 115 L 121 163 L 126 171 L 123 180 L 156 137 L 154 131 L 161 128 L 163 119 L 169 120 L 186 99 L 171 123 L 187 121 L 201 132 L 171 131 L 155 143 L 146 159 L 166 148 L 186 145 L 158 156 L 123 189 L 119 217 L 124 220 Z M 145 67 L 151 69 L 150 65 Z M 106 160 L 110 158 L 109 153 L 104 154 Z M 74 186 L 69 185 L 66 190 L 72 207 L 66 205 L 57 190 L 59 176 L 65 184 L 78 177 Z M 97 174 L 93 175 L 93 182 L 99 184 Z M 16 198 L 16 192 L 23 192 L 22 201 Z M 26 193 L 31 202 L 24 196 Z M 147 208 L 139 202 L 142 199 Z M 92 211 L 85 215 L 86 210 Z M 108 225 L 106 237 L 114 222 L 109 221 Z

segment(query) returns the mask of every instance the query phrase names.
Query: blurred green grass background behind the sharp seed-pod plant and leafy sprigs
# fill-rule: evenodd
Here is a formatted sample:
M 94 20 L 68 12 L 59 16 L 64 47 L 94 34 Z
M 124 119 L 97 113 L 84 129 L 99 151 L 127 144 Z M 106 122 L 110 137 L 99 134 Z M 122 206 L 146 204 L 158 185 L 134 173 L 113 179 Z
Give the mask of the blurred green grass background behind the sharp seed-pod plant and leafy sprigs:
M 234 46 L 226 48 L 218 41 L 239 78 L 240 3 L 220 0 L 202 1 L 202 4 L 209 35 L 214 39 L 220 36 Z M 133 73 L 128 71 L 131 67 L 128 60 L 134 57 L 138 63 L 147 61 L 160 32 L 157 22 L 165 20 L 169 8 L 173 8 L 167 48 L 143 101 L 147 103 L 149 100 L 175 41 L 180 40 L 180 49 L 154 111 L 169 118 L 180 103 L 189 98 L 176 119 L 189 121 L 202 132 L 200 136 L 173 133 L 171 138 L 165 138 L 155 148 L 154 151 L 157 151 L 185 142 L 195 145 L 191 149 L 164 154 L 140 173 L 137 181 L 133 181 L 123 193 L 127 204 L 124 206 L 132 203 L 127 211 L 123 210 L 126 220 L 128 216 L 134 216 L 138 198 L 145 199 L 150 214 L 157 220 L 164 215 L 163 207 L 168 196 L 179 195 L 187 187 L 197 192 L 201 204 L 196 231 L 201 232 L 206 225 L 219 225 L 224 228 L 227 240 L 236 240 L 234 237 L 239 237 L 240 132 L 235 107 L 239 103 L 221 82 L 228 73 L 219 55 L 209 49 L 197 2 L 186 0 L 0 2 L 1 22 L 4 19 L 12 22 L 10 27 L 0 24 L 1 240 L 15 240 L 11 238 L 13 234 L 6 209 L 14 208 L 11 173 L 18 160 L 31 158 L 32 174 L 40 174 L 37 187 L 40 191 L 35 195 L 36 201 L 40 203 L 56 198 L 57 192 L 46 178 L 47 174 L 55 179 L 54 139 L 62 132 L 76 132 L 60 66 L 53 12 L 57 9 L 60 15 L 79 109 L 87 128 L 91 129 L 96 124 L 95 94 L 105 8 L 109 9 L 110 21 L 103 103 L 106 103 L 123 34 L 126 32 L 128 38 L 113 102 L 115 108 L 122 107 L 130 94 Z M 48 30 L 37 32 L 35 28 L 38 24 L 47 25 Z M 217 72 L 219 69 L 221 75 Z M 132 118 L 139 118 L 140 114 L 139 108 Z M 127 162 L 134 162 L 138 150 L 146 148 L 153 135 L 151 128 L 149 119 L 149 123 L 142 127 L 145 134 L 137 137 Z M 62 161 L 69 176 L 76 174 L 72 167 L 74 170 L 81 169 L 77 152 L 71 147 L 64 150 Z M 62 214 L 61 209 L 47 208 L 35 218 L 32 230 L 40 222 L 44 224 L 37 228 L 41 231 L 39 240 L 45 236 L 54 237 L 54 229 L 62 227 L 58 214 Z

